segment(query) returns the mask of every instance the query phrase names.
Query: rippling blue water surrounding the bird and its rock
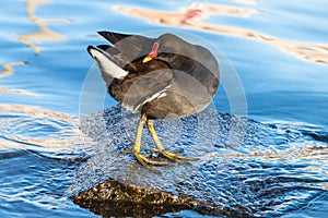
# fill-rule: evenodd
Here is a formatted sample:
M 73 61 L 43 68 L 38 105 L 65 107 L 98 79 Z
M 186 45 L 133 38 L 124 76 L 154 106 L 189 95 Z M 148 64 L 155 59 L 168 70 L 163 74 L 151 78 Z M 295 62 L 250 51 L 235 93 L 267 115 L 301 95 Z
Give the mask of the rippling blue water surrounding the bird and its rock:
M 86 153 L 87 142 L 83 142 L 79 132 L 80 96 L 86 76 L 95 71 L 86 47 L 104 43 L 96 36 L 101 29 L 136 34 L 183 31 L 219 49 L 236 77 L 232 84 L 229 80 L 221 84 L 213 99 L 218 111 L 247 116 L 268 126 L 274 125 L 278 132 L 301 132 L 305 150 L 306 146 L 321 150 L 313 159 L 309 156 L 304 160 L 301 155 L 298 160 L 305 168 L 306 165 L 311 168 L 309 164 L 316 166 L 317 174 L 308 177 L 320 178 L 320 194 L 309 202 L 304 199 L 301 208 L 282 209 L 277 215 L 328 215 L 328 2 L 206 1 L 254 13 L 243 16 L 207 11 L 212 15 L 188 25 L 161 24 L 112 8 L 119 4 L 141 12 L 155 10 L 160 14 L 177 12 L 191 3 L 1 1 L 0 217 L 97 217 L 74 205 L 66 191 L 79 168 L 69 160 Z M 206 25 L 214 28 L 203 28 Z M 215 31 L 215 26 L 229 31 Z M 262 39 L 268 37 L 271 39 Z M 7 69 L 8 63 L 13 63 L 12 70 Z M 224 74 L 225 78 L 229 75 Z M 102 85 L 102 81 L 94 83 Z M 247 105 L 239 106 L 243 97 Z M 116 102 L 107 96 L 103 105 L 110 107 Z M 283 170 L 285 160 L 281 161 L 279 167 Z M 296 196 L 297 193 L 293 197 Z M 272 202 L 274 197 L 279 198 L 272 196 Z M 177 214 L 195 216 L 195 213 Z

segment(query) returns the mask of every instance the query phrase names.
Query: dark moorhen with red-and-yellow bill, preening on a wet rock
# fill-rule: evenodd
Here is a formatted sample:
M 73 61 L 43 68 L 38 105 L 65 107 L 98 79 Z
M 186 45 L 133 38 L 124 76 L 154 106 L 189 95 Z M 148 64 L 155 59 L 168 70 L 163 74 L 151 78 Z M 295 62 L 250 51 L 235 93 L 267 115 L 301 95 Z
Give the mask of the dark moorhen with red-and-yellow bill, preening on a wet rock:
M 157 38 L 106 31 L 98 34 L 112 45 L 89 46 L 87 51 L 101 70 L 108 93 L 128 110 L 140 113 L 134 146 L 128 152 L 148 168 L 167 164 L 140 154 L 147 123 L 157 147 L 153 150 L 177 162 L 194 159 L 166 150 L 153 120 L 191 116 L 211 102 L 220 81 L 213 55 L 173 34 Z

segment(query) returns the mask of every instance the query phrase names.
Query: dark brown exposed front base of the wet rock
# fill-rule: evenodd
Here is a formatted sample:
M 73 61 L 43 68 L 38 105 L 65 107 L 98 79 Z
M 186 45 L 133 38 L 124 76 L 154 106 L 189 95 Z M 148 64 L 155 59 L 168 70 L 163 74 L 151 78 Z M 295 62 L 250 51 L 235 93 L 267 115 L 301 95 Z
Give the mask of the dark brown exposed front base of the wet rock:
M 197 206 L 191 196 L 122 184 L 109 179 L 73 196 L 74 203 L 103 217 L 152 217 Z

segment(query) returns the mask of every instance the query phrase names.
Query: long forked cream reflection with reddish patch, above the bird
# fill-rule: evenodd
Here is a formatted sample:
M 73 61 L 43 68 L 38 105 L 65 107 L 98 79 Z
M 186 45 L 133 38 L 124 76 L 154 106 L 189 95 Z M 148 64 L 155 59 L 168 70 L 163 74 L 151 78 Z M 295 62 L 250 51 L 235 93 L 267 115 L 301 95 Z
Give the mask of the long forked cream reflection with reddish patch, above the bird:
M 115 5 L 112 9 L 120 13 L 147 20 L 156 25 L 161 24 L 196 28 L 229 36 L 255 39 L 274 46 L 277 49 L 294 56 L 295 58 L 328 64 L 328 45 L 281 39 L 257 33 L 251 29 L 210 24 L 203 21 L 208 15 L 234 15 L 239 17 L 249 17 L 257 12 L 256 10 L 208 3 L 190 4 L 187 8 L 179 9 L 177 12 L 162 12 L 157 10 L 126 5 Z

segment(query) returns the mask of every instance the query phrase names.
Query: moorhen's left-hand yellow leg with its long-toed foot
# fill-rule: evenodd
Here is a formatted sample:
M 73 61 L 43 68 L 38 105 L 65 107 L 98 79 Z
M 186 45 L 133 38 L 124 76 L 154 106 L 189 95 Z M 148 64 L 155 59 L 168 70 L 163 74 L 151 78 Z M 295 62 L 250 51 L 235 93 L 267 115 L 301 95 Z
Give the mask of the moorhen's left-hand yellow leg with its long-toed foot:
M 151 159 L 149 159 L 145 156 L 140 154 L 141 140 L 142 140 L 142 129 L 143 129 L 143 125 L 144 125 L 145 121 L 147 121 L 147 117 L 145 117 L 145 114 L 142 114 L 140 117 L 139 122 L 138 122 L 133 149 L 132 150 L 131 149 L 125 150 L 125 152 L 122 152 L 122 154 L 133 153 L 133 155 L 137 157 L 139 162 L 141 162 L 141 165 L 143 165 L 147 168 L 151 168 L 149 165 L 167 165 L 167 162 L 165 162 L 165 161 L 151 160 Z

